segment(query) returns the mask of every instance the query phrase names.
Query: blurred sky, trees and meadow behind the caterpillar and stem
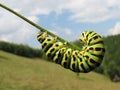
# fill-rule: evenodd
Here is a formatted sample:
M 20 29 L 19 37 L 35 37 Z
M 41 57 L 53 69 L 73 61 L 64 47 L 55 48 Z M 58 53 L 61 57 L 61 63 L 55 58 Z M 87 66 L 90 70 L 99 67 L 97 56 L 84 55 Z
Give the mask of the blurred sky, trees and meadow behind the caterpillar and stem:
M 106 53 L 100 67 L 76 74 L 54 63 L 41 50 L 39 32 L 0 7 L 0 89 L 2 90 L 119 90 L 119 0 L 0 0 L 16 12 L 81 47 L 85 30 L 99 33 Z

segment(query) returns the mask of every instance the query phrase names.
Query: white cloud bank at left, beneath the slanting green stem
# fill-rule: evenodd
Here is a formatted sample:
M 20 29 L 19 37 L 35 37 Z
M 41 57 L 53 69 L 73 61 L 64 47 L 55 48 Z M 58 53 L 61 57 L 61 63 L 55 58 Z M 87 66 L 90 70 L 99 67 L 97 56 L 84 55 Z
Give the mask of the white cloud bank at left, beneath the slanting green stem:
M 1 8 L 0 14 L 0 40 L 27 44 L 27 41 L 36 35 L 37 30 L 20 18 Z M 38 21 L 34 16 L 28 18 L 34 22 Z

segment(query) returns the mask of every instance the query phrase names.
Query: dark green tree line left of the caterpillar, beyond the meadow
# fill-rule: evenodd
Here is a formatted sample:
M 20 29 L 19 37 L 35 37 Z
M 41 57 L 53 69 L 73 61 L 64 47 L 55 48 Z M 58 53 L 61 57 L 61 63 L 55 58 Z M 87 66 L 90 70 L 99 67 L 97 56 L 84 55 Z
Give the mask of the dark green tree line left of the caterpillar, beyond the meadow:
M 9 43 L 9 42 L 4 42 L 0 41 L 0 50 L 14 53 L 20 56 L 25 56 L 25 57 L 42 57 L 42 51 L 39 49 L 34 49 L 31 48 L 27 45 L 18 45 L 14 43 Z

